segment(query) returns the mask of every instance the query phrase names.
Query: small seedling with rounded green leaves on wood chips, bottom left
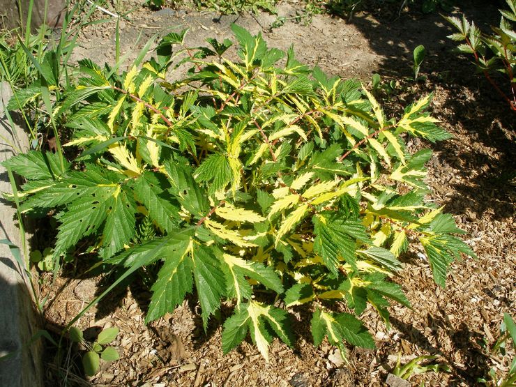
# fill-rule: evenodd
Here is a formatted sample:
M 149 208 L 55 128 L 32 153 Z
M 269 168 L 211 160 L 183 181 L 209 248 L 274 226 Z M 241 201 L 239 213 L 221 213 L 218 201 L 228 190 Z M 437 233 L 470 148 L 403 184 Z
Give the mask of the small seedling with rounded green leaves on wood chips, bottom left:
M 100 359 L 103 361 L 116 361 L 120 358 L 119 351 L 115 347 L 108 347 L 106 344 L 113 342 L 119 334 L 119 328 L 105 328 L 98 334 L 97 340 L 89 344 L 84 340 L 82 331 L 72 326 L 68 331 L 70 340 L 82 344 L 86 349 L 86 353 L 82 356 L 82 366 L 84 373 L 89 377 L 93 377 L 100 370 Z

